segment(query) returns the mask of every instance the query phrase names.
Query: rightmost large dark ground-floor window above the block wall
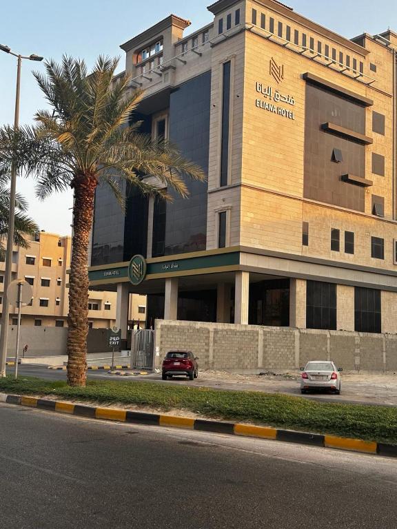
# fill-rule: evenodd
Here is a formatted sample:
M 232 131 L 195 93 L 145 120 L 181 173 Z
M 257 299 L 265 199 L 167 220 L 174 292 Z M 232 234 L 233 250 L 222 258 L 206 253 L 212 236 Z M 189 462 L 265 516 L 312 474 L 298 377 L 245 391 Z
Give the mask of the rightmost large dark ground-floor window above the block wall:
M 380 290 L 355 287 L 354 330 L 359 333 L 380 333 L 381 327 Z

